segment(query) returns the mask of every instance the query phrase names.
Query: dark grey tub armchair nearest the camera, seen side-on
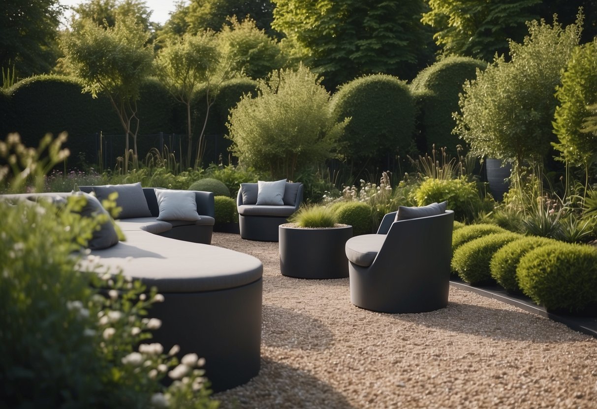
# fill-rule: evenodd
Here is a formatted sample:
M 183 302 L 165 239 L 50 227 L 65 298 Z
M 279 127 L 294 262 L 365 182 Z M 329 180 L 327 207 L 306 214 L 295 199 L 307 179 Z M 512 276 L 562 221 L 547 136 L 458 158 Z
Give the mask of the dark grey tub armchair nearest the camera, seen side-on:
M 445 208 L 445 207 L 444 207 Z M 350 300 L 389 313 L 426 312 L 448 305 L 454 212 L 394 221 L 377 234 L 350 238 Z

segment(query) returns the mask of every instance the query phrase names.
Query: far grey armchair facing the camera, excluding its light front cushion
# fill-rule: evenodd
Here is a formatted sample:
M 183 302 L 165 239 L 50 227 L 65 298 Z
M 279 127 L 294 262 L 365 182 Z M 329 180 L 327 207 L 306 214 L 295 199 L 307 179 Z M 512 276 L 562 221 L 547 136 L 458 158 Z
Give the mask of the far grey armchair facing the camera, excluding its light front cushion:
M 286 182 L 283 206 L 256 204 L 257 193 L 257 183 L 242 183 L 238 191 L 236 209 L 241 237 L 278 241 L 278 226 L 288 222 L 303 201 L 303 184 Z

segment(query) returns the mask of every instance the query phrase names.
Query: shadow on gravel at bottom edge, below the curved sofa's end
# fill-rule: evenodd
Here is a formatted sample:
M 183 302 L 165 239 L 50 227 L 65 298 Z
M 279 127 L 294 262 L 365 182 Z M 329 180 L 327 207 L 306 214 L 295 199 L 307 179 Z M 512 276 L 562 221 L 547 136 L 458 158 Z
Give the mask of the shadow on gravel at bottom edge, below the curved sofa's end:
M 223 407 L 356 409 L 345 396 L 322 380 L 268 359 L 261 360 L 259 375 L 250 382 L 217 393 L 214 398 L 221 399 Z M 259 402 L 259 406 L 255 402 Z

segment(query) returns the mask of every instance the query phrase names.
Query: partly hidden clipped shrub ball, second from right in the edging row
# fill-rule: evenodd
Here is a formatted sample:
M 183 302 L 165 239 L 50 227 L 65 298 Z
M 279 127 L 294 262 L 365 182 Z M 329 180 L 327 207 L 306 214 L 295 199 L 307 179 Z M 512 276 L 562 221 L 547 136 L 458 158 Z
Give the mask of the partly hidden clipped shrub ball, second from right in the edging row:
M 544 237 L 530 236 L 506 244 L 497 250 L 491 259 L 491 277 L 504 289 L 515 293 L 521 292 L 516 279 L 516 267 L 518 267 L 522 256 L 537 247 L 546 246 L 550 243 L 555 243 L 555 241 Z

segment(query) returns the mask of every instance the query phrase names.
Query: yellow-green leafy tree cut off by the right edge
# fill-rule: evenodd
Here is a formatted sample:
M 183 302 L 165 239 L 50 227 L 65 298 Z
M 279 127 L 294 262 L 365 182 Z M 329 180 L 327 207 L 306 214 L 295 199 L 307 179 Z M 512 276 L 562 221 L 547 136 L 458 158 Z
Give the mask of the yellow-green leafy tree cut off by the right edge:
M 583 132 L 590 116 L 588 106 L 597 103 L 597 39 L 574 48 L 556 91 L 553 132 L 559 143 L 553 147 L 571 165 L 589 166 L 597 162 L 597 138 Z

